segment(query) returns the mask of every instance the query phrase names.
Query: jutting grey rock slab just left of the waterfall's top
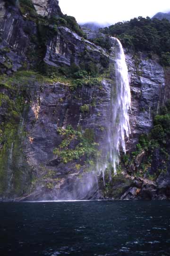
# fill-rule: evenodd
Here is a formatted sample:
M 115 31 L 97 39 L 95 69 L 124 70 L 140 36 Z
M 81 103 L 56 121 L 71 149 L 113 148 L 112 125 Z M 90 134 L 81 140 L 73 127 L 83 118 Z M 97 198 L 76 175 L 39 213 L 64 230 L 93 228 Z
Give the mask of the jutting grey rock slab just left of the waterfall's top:
M 70 66 L 71 62 L 74 61 L 75 64 L 80 65 L 82 56 L 85 55 L 86 51 L 90 52 L 90 57 L 95 60 L 96 65 L 101 69 L 103 68 L 103 59 L 103 62 L 109 62 L 110 56 L 100 46 L 96 46 L 90 41 L 82 40 L 82 37 L 68 27 L 59 27 L 58 29 L 58 35 L 53 37 L 47 44 L 45 63 L 58 67 L 64 64 Z M 84 58 L 85 64 L 90 61 L 90 57 Z M 109 64 L 104 63 L 104 66 L 108 67 Z

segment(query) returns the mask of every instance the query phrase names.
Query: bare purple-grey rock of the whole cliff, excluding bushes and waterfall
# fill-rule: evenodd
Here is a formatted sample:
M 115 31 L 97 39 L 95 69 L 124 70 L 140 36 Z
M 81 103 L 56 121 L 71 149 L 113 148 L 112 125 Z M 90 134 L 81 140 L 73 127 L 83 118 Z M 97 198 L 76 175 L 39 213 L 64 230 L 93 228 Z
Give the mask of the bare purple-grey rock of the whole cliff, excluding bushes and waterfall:
M 83 136 L 93 135 L 96 151 L 104 152 L 117 44 L 113 37 L 107 38 L 110 46 L 114 46 L 111 52 L 90 41 L 105 37 L 101 33 L 84 30 L 85 39 L 70 27 L 47 25 L 53 15 L 63 18 L 59 2 L 32 2 L 38 16 L 31 18 L 18 5 L 0 3 L 0 73 L 13 73 L 11 77 L 17 74 L 18 79 L 9 82 L 10 86 L 0 86 L 0 199 L 169 199 L 170 170 L 155 181 L 134 176 L 145 152 L 136 156 L 131 175 L 124 171 L 113 179 L 110 194 L 106 193 L 101 175 L 93 171 L 91 158 L 83 156 L 64 163 L 54 154 L 53 150 L 66 139 L 58 129 L 68 125 Z M 159 113 L 170 90 L 156 57 L 148 59 L 144 53 L 131 52 L 126 54 L 126 61 L 132 95 L 131 135 L 127 141 L 127 153 L 131 153 L 139 135 L 153 128 L 153 116 Z M 99 75 L 97 80 L 92 79 L 93 85 L 81 80 L 74 87 L 73 79 L 64 75 L 57 81 L 28 72 L 35 63 L 54 72 L 58 68 L 72 68 L 73 64 L 81 69 L 90 64 Z M 21 81 L 22 72 L 25 82 Z M 90 78 L 89 81 L 92 82 Z M 77 145 L 77 139 L 72 139 L 68 149 L 75 150 Z M 155 151 L 151 171 L 161 162 L 160 152 Z

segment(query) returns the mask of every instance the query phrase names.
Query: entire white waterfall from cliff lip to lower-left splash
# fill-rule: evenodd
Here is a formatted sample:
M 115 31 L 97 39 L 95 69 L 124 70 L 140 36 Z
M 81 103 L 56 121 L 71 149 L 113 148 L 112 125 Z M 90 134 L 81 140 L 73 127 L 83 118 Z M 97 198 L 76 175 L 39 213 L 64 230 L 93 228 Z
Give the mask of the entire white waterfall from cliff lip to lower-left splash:
M 106 123 L 108 138 L 105 150 L 107 152 L 104 161 L 102 160 L 102 164 L 98 163 L 97 165 L 99 172 L 102 171 L 103 180 L 105 170 L 108 169 L 110 165 L 114 170 L 114 174 L 117 173 L 120 149 L 126 153 L 125 135 L 128 138 L 130 134 L 128 111 L 130 110 L 131 95 L 127 64 L 120 41 L 117 38 L 112 37 L 112 39 L 115 41 L 115 47 L 112 49 L 115 63 L 112 66 L 114 83 L 109 91 L 110 111 Z

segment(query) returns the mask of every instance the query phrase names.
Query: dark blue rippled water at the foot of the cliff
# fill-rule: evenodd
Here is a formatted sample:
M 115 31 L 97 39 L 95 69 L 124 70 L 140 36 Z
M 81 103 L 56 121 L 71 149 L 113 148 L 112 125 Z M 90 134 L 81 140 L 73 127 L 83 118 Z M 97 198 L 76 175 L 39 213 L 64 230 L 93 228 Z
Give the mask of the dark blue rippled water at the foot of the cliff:
M 0 256 L 170 256 L 170 202 L 0 203 Z

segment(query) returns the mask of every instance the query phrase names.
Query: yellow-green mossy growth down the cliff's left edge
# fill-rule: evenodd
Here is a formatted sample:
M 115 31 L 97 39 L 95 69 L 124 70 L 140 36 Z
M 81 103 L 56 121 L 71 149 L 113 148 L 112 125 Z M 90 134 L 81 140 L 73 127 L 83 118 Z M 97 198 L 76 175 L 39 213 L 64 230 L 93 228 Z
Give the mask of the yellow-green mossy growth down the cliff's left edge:
M 0 194 L 20 196 L 30 189 L 31 167 L 26 164 L 23 144 L 27 134 L 24 118 L 31 104 L 31 90 L 51 78 L 33 71 L 0 75 Z

